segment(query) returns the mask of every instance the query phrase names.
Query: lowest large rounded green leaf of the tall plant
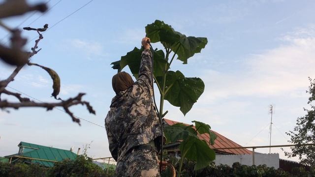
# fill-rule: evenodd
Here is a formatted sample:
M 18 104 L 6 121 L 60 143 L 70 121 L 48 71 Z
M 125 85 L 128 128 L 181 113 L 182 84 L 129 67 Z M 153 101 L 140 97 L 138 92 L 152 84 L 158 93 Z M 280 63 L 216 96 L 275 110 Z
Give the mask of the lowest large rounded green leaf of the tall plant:
M 185 158 L 196 162 L 194 170 L 207 167 L 216 158 L 215 151 L 198 138 L 189 137 L 181 143 L 179 148 Z

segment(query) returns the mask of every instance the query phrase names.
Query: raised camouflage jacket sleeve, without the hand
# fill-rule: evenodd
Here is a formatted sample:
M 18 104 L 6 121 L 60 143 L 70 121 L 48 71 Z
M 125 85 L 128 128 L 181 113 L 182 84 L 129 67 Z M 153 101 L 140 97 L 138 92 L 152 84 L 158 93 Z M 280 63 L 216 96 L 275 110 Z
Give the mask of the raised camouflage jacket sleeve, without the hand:
M 149 49 L 145 49 L 141 54 L 141 63 L 139 69 L 139 79 L 151 89 L 152 82 L 152 53 Z

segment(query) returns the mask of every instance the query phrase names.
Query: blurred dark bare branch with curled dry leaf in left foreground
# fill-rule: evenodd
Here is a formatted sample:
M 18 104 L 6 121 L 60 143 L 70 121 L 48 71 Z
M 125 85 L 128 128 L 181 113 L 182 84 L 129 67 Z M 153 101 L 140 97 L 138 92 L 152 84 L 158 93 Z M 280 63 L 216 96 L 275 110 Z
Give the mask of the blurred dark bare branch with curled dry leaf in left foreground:
M 26 12 L 32 11 L 32 10 L 38 10 L 41 12 L 46 11 L 47 7 L 45 4 L 37 4 L 35 6 L 29 6 L 25 0 L 6 0 L 4 3 L 0 4 L 0 19 L 4 17 L 9 16 L 15 16 L 15 15 L 21 15 Z M 52 110 L 55 107 L 63 107 L 63 110 L 65 113 L 67 113 L 74 122 L 77 122 L 80 125 L 80 119 L 76 118 L 73 113 L 69 110 L 69 107 L 74 105 L 83 105 L 86 106 L 88 111 L 91 114 L 95 114 L 95 110 L 87 101 L 82 101 L 82 96 L 85 95 L 85 93 L 79 93 L 77 96 L 73 98 L 69 98 L 67 100 L 62 100 L 61 98 L 58 98 L 58 100 L 61 100 L 60 102 L 56 103 L 45 103 L 45 102 L 35 102 L 31 101 L 29 98 L 21 97 L 20 93 L 15 93 L 12 91 L 8 91 L 5 89 L 8 84 L 12 81 L 14 81 L 15 76 L 20 72 L 20 70 L 26 65 L 35 65 L 43 68 L 46 70 L 51 78 L 54 81 L 53 89 L 54 92 L 52 93 L 52 96 L 54 96 L 57 99 L 57 95 L 59 94 L 60 90 L 60 78 L 58 74 L 45 66 L 31 63 L 30 58 L 36 55 L 41 49 L 36 50 L 38 48 L 38 43 L 41 39 L 43 39 L 43 35 L 40 32 L 43 32 L 48 29 L 48 24 L 45 24 L 43 28 L 31 28 L 31 27 L 25 27 L 25 30 L 35 30 L 38 33 L 38 39 L 35 40 L 35 44 L 32 47 L 32 52 L 25 52 L 22 50 L 23 46 L 26 44 L 26 39 L 21 37 L 21 30 L 19 29 L 11 29 L 5 24 L 1 23 L 0 21 L 0 27 L 8 30 L 11 32 L 12 37 L 11 40 L 11 46 L 5 47 L 0 44 L 0 59 L 5 61 L 8 64 L 15 65 L 15 70 L 11 73 L 11 75 L 5 79 L 0 81 L 0 96 L 10 95 L 19 100 L 19 102 L 9 102 L 7 100 L 1 100 L 0 98 L 0 108 L 6 109 L 6 108 L 14 108 L 19 109 L 22 107 L 43 107 L 46 108 L 47 111 Z

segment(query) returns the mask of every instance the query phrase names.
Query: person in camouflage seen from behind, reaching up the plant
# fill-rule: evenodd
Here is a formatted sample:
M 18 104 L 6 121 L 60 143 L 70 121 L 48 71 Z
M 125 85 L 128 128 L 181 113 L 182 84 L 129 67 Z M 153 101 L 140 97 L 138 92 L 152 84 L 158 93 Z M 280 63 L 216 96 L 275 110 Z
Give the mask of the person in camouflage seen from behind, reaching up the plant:
M 117 177 L 160 177 L 158 140 L 161 129 L 153 103 L 150 39 L 142 39 L 139 78 L 126 72 L 113 76 L 116 96 L 105 118 L 109 150 L 117 161 Z

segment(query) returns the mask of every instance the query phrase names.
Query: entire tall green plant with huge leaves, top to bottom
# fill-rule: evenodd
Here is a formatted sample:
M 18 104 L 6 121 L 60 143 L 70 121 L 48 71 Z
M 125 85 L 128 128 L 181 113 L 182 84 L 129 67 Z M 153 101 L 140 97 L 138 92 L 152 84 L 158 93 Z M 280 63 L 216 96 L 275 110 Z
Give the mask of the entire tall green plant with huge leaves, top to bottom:
M 203 93 L 205 86 L 200 78 L 185 77 L 179 70 L 171 71 L 170 66 L 176 56 L 177 59 L 183 61 L 183 64 L 187 64 L 189 58 L 205 48 L 208 40 L 206 37 L 187 37 L 159 20 L 147 25 L 145 29 L 146 36 L 150 38 L 152 43 L 160 42 L 164 46 L 164 51 L 158 49 L 152 51 L 154 54 L 153 77 L 160 93 L 159 116 L 163 118 L 167 113 L 167 111 L 163 113 L 164 100 L 167 100 L 173 106 L 180 107 L 185 116 Z M 118 69 L 118 72 L 120 72 L 128 66 L 137 79 L 142 51 L 143 48 L 135 47 L 126 56 L 121 57 L 119 61 L 112 62 L 112 68 Z M 208 165 L 211 160 L 214 160 L 215 152 L 209 148 L 207 142 L 198 139 L 197 133 L 208 133 L 211 136 L 210 143 L 214 142 L 216 136 L 211 132 L 209 125 L 199 122 L 196 123 L 196 127 L 197 124 L 203 127 L 201 128 L 202 132 L 200 132 L 201 129 L 194 130 L 191 128 L 192 125 L 186 127 L 180 124 L 166 127 L 164 131 L 168 142 L 184 140 L 180 147 L 182 159 L 186 156 L 190 157 L 191 160 L 199 161 L 196 169 L 200 169 Z M 178 136 L 174 137 L 175 134 Z

